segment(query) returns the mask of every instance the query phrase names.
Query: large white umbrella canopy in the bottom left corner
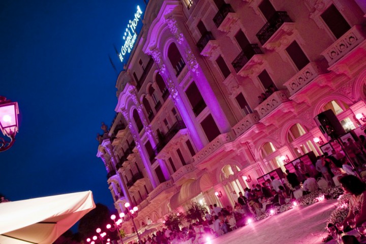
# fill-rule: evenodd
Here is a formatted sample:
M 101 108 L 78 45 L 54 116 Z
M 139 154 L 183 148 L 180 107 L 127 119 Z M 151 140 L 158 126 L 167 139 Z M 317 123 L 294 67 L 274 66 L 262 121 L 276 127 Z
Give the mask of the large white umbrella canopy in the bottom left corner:
M 0 243 L 52 243 L 93 208 L 91 191 L 0 203 Z

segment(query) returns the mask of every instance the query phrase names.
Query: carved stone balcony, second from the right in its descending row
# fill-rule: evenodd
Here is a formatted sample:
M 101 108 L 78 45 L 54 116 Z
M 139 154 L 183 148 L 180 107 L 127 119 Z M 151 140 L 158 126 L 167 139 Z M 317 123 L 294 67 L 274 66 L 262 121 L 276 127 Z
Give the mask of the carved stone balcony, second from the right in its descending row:
M 284 85 L 290 91 L 290 95 L 292 96 L 322 73 L 321 68 L 316 63 L 312 62 L 297 72 L 297 74 L 289 79 Z

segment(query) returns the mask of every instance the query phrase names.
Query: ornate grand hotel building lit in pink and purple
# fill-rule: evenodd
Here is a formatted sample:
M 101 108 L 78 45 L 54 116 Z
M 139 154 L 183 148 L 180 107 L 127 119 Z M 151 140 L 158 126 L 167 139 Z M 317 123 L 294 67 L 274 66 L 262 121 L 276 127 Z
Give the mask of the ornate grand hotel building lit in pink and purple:
M 365 13 L 363 0 L 149 1 L 97 153 L 116 209 L 137 205 L 139 228 L 192 201 L 233 205 L 281 156 L 321 154 L 320 112 L 364 125 Z

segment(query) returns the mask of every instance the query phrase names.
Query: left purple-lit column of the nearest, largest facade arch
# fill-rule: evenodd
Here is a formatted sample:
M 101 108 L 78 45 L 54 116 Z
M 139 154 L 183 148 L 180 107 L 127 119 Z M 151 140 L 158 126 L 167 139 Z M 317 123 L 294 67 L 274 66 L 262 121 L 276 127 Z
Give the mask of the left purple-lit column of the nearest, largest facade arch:
M 194 121 L 191 118 L 187 107 L 185 106 L 184 102 L 181 100 L 178 90 L 172 81 L 169 72 L 167 71 L 166 65 L 163 62 L 163 56 L 160 50 L 155 47 L 149 50 L 148 52 L 151 57 L 153 57 L 156 65 L 158 66 L 159 72 L 165 81 L 167 88 L 169 90 L 170 96 L 175 104 L 175 107 L 179 110 L 180 115 L 184 123 L 186 124 L 188 130 L 190 131 L 191 138 L 193 143 L 195 144 L 197 150 L 201 150 L 203 148 L 203 143 L 201 137 L 195 127 Z

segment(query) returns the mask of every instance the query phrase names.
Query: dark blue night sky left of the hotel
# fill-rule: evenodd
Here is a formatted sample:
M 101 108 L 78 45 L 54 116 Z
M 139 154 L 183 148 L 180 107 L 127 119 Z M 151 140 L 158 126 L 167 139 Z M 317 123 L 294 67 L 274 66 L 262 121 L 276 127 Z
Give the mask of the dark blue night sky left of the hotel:
M 12 201 L 92 190 L 113 209 L 96 157 L 115 115 L 113 44 L 143 0 L 0 1 L 0 96 L 17 101 L 19 133 L 0 153 L 0 193 Z M 118 63 L 119 62 L 119 63 Z

